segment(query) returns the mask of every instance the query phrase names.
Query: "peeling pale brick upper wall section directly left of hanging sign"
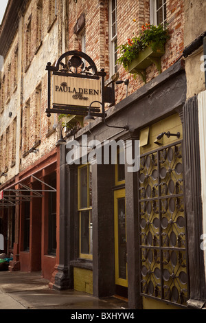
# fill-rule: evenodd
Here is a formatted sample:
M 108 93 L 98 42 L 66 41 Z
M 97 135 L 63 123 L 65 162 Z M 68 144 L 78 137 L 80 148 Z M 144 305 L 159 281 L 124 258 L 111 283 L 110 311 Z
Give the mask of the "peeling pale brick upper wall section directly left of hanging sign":
M 40 12 L 37 4 L 42 6 L 43 21 L 40 21 Z M 58 8 L 57 8 L 58 9 Z M 41 2 L 31 1 L 24 19 L 24 30 L 27 30 L 27 22 L 31 23 L 31 52 L 30 62 L 23 54 L 23 116 L 26 102 L 30 101 L 30 122 L 23 123 L 23 149 L 22 149 L 22 170 L 33 164 L 43 155 L 55 148 L 57 132 L 52 131 L 52 126 L 57 119 L 54 115 L 48 118 L 47 109 L 47 62 L 52 64 L 58 58 L 58 19 L 55 16 L 55 1 L 43 0 Z M 42 27 L 41 32 L 39 27 Z M 26 37 L 23 40 L 23 47 L 26 47 Z M 26 51 L 24 51 L 25 53 Z M 28 129 L 27 129 L 28 128 Z M 26 144 L 27 133 L 29 142 Z M 32 147 L 38 152 L 28 153 Z

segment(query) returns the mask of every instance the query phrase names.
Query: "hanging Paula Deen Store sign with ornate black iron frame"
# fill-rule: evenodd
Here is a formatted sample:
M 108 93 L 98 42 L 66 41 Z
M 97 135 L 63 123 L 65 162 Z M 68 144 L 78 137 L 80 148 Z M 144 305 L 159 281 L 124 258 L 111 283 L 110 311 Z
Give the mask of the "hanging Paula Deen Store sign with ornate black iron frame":
M 89 96 L 93 101 L 98 102 L 95 95 L 99 95 L 102 101 L 101 107 L 90 107 L 90 113 L 94 117 L 105 118 L 104 77 L 106 76 L 106 73 L 104 72 L 104 69 L 101 71 L 97 70 L 91 57 L 83 52 L 69 51 L 58 58 L 55 66 L 52 66 L 50 62 L 47 63 L 46 70 L 48 71 L 47 117 L 50 117 L 51 113 L 86 116 L 91 104 Z M 54 80 L 56 79 L 54 79 L 53 84 L 51 84 L 51 80 L 52 78 L 55 78 L 55 76 L 57 76 L 58 85 L 54 84 Z M 67 78 L 69 85 L 67 84 Z M 101 82 L 97 82 L 100 79 Z M 76 82 L 76 87 L 70 86 L 71 80 Z M 93 84 L 91 82 L 92 80 L 96 81 L 94 84 L 99 85 L 98 89 L 95 87 L 87 88 L 87 82 L 88 84 Z M 82 83 L 82 81 L 84 83 Z M 84 87 L 82 87 L 82 84 L 84 84 Z M 51 87 L 53 93 L 51 93 Z M 54 92 L 59 92 L 57 94 L 55 93 L 58 96 L 59 102 L 56 102 L 56 99 L 54 99 Z M 68 100 L 63 99 L 63 97 L 70 98 L 69 95 L 71 95 L 72 100 L 69 100 L 68 102 Z

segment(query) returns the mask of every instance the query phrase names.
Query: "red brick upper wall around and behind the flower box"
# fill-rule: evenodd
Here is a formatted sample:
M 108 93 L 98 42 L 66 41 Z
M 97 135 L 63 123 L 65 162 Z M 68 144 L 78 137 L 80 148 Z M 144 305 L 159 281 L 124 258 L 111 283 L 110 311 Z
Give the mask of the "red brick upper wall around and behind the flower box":
M 109 74 L 109 47 L 108 47 L 108 1 L 69 1 L 69 49 L 81 49 L 80 38 L 73 34 L 81 14 L 85 15 L 86 52 L 98 67 L 104 68 Z M 135 19 L 136 21 L 133 21 Z M 170 32 L 170 40 L 165 45 L 165 54 L 161 57 L 161 69 L 164 71 L 174 64 L 183 51 L 183 25 L 184 25 L 184 1 L 167 1 L 167 21 Z M 149 0 L 117 0 L 117 46 L 127 42 L 127 38 L 138 35 L 141 26 L 150 23 Z M 119 65 L 119 79 L 130 79 L 129 94 L 144 85 L 137 76 L 134 79 Z M 159 72 L 155 65 L 150 65 L 146 71 L 146 79 L 149 82 Z M 125 85 L 115 86 L 115 101 L 119 102 L 126 96 Z

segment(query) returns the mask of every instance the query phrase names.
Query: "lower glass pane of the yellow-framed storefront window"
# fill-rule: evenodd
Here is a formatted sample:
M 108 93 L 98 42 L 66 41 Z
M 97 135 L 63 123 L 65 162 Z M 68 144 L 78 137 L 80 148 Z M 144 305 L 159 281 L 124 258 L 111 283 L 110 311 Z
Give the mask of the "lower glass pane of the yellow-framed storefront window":
M 81 212 L 81 254 L 89 254 L 89 211 Z

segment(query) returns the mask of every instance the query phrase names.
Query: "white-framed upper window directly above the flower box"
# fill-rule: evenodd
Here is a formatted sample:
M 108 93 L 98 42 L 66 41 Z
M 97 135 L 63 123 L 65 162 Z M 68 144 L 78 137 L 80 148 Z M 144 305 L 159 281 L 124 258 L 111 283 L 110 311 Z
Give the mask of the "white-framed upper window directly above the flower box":
M 165 25 L 167 23 L 167 0 L 150 0 L 150 23 Z

